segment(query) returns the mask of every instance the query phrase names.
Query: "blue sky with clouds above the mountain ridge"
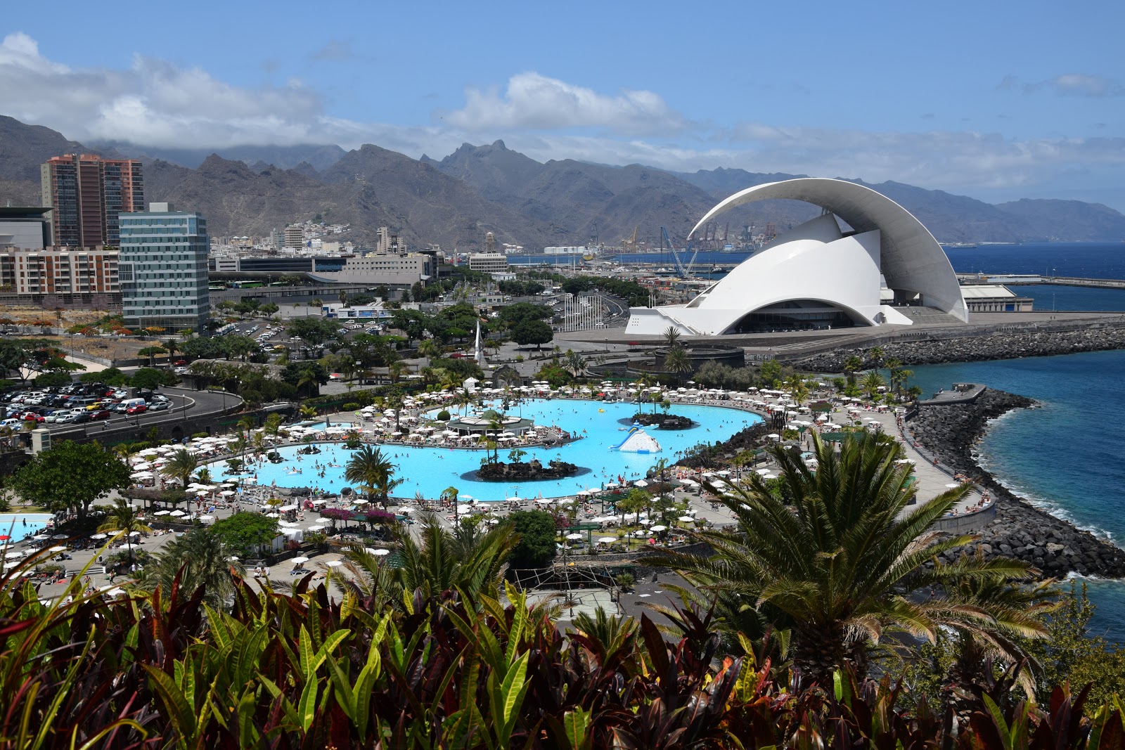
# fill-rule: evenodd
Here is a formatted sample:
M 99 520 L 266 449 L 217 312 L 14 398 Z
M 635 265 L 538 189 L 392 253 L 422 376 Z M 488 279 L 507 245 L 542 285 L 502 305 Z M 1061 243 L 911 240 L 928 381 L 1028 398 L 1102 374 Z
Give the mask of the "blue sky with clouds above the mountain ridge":
M 1105 0 L 17 3 L 0 114 L 82 142 L 503 139 L 1125 210 L 1123 22 Z

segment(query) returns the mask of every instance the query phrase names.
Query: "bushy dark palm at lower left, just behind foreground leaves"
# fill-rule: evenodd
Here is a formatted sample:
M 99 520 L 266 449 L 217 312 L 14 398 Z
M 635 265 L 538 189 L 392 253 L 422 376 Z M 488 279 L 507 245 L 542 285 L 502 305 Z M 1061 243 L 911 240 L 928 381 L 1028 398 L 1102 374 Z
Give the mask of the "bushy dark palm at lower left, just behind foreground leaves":
M 209 528 L 196 528 L 169 542 L 141 572 L 138 587 L 168 591 L 176 577 L 187 591 L 204 589 L 204 602 L 225 608 L 234 594 L 234 576 L 243 575 L 237 560 L 231 560 L 222 540 Z

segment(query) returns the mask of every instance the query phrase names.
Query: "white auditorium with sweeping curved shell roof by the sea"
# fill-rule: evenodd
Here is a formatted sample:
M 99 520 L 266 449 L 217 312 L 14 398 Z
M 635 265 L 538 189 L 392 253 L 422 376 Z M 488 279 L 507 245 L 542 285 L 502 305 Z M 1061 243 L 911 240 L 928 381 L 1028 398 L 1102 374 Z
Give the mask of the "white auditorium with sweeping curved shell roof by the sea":
M 969 319 L 961 284 L 934 236 L 893 200 L 854 182 L 800 178 L 755 186 L 708 211 L 692 234 L 731 208 L 771 199 L 810 202 L 824 213 L 767 244 L 686 305 L 632 308 L 627 331 L 658 335 L 672 327 L 713 336 L 910 325 L 909 308 L 919 307 Z M 837 216 L 850 231 L 840 229 Z

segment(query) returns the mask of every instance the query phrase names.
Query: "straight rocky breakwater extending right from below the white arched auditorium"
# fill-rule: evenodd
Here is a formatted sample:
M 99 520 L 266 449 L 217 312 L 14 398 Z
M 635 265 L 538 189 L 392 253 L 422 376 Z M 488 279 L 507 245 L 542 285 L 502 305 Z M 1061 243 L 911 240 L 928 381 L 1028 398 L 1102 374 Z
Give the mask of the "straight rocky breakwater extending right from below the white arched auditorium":
M 881 346 L 883 358 L 897 359 L 904 365 L 939 364 L 942 362 L 979 362 L 1014 360 L 1020 356 L 1050 356 L 1076 352 L 1125 349 L 1125 328 L 1088 328 L 1082 331 L 1020 331 L 988 336 L 896 341 Z M 870 349 L 840 349 L 816 354 L 800 361 L 802 370 L 843 372 L 848 358 L 857 356 L 863 369 L 875 367 Z

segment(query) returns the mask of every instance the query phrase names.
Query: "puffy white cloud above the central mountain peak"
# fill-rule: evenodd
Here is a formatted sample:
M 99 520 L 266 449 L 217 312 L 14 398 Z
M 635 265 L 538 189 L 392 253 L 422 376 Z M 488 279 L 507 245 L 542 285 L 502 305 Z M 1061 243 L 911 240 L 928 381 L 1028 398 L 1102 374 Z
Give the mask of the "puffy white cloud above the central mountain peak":
M 684 118 L 651 91 L 622 90 L 608 97 L 593 89 L 519 73 L 501 96 L 493 88 L 469 88 L 465 107 L 443 119 L 453 127 L 477 133 L 496 128 L 564 130 L 594 127 L 624 135 L 672 134 L 688 127 Z

